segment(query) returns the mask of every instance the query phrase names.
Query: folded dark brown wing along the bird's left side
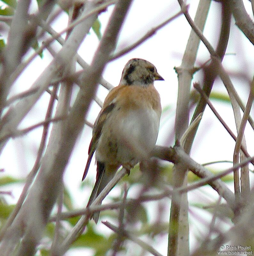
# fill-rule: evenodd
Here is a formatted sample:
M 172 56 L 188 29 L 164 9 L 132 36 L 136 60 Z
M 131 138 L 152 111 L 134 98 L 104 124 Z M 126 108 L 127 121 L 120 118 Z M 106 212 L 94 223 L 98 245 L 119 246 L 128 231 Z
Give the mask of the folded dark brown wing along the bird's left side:
M 93 135 L 92 135 L 92 139 L 91 139 L 89 149 L 88 149 L 88 159 L 87 159 L 87 163 L 86 163 L 86 166 L 85 166 L 82 181 L 85 179 L 85 177 L 87 175 L 87 172 L 88 172 L 91 160 L 92 160 L 92 156 L 93 156 L 93 154 L 96 150 L 96 147 L 97 147 L 97 144 L 98 144 L 98 141 L 99 141 L 99 137 L 100 137 L 102 127 L 103 127 L 105 121 L 107 120 L 108 114 L 114 109 L 114 107 L 115 107 L 115 103 L 109 104 L 106 108 L 104 108 L 100 112 L 99 116 L 97 117 L 97 119 L 94 123 L 93 133 L 92 133 Z

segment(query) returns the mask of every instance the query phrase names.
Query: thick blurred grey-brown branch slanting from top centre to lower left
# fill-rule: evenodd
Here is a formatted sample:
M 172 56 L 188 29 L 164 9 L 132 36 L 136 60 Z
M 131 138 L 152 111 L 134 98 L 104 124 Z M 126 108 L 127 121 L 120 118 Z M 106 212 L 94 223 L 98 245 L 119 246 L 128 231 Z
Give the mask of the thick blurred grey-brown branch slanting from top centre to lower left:
M 109 25 L 100 41 L 99 47 L 92 60 L 91 67 L 86 73 L 83 74 L 83 81 L 84 81 L 84 84 L 86 84 L 87 86 L 79 91 L 65 125 L 61 126 L 62 130 L 60 132 L 61 136 L 59 136 L 59 140 L 58 140 L 58 147 L 57 148 L 55 147 L 55 151 L 54 151 L 55 157 L 53 159 L 51 157 L 50 161 L 44 162 L 44 164 L 42 164 L 41 170 L 43 169 L 43 171 L 39 173 L 40 175 L 38 175 L 35 183 L 33 184 L 33 187 L 31 188 L 30 194 L 28 195 L 29 200 L 31 201 L 36 200 L 37 204 L 38 202 L 40 202 L 40 205 L 36 205 L 36 208 L 37 208 L 37 211 L 41 211 L 39 213 L 39 216 L 42 215 L 42 219 L 45 221 L 42 223 L 43 226 L 46 224 L 46 221 L 49 217 L 52 206 L 55 202 L 55 199 L 57 196 L 57 190 L 61 184 L 63 171 L 67 164 L 68 158 L 72 152 L 76 138 L 79 135 L 81 129 L 83 128 L 86 112 L 90 105 L 91 99 L 95 93 L 96 86 L 98 84 L 101 73 L 109 59 L 109 54 L 115 48 L 116 38 L 118 36 L 119 30 L 121 28 L 123 19 L 127 13 L 130 3 L 131 3 L 131 0 L 130 1 L 120 0 L 116 4 L 114 12 L 109 21 Z M 85 5 L 85 8 L 91 8 L 93 4 L 94 2 L 87 2 L 87 4 Z M 73 32 L 70 34 L 70 36 L 67 39 L 67 42 L 71 38 L 71 35 L 75 32 L 75 29 L 77 28 L 78 26 L 76 26 L 73 29 Z M 44 160 L 46 161 L 46 159 Z M 55 170 L 54 174 L 52 174 L 52 169 Z M 38 187 L 40 188 L 46 187 L 47 189 L 45 189 L 45 191 L 42 190 L 44 191 L 44 193 L 42 192 L 38 193 L 39 192 Z M 50 188 L 50 193 L 49 191 L 47 191 L 48 188 Z M 29 201 L 28 199 L 26 202 Z M 30 204 L 27 203 L 24 206 L 24 209 L 26 209 L 26 207 L 30 208 L 31 202 Z M 81 227 L 78 226 L 80 222 L 82 222 L 83 220 L 84 219 L 81 219 L 78 222 L 78 224 L 75 226 L 75 228 L 77 229 L 77 232 L 76 231 L 71 232 L 70 235 L 65 240 L 65 242 L 63 243 L 62 247 L 59 249 L 60 255 L 63 254 L 69 248 L 69 245 L 76 239 L 76 235 L 83 230 L 83 223 L 81 223 Z M 22 219 L 20 219 L 20 221 L 22 221 Z M 31 225 L 31 227 L 33 226 L 33 229 L 35 229 L 35 227 L 37 227 L 38 225 L 38 223 L 36 223 L 36 218 L 31 216 L 29 225 Z M 42 230 L 41 227 L 38 227 L 38 228 Z M 28 232 L 31 232 L 30 229 L 28 230 L 29 230 Z M 36 243 L 40 239 L 40 236 L 41 234 L 36 234 L 36 240 L 31 241 L 33 246 L 36 246 Z M 23 239 L 23 244 L 27 242 L 26 239 L 27 237 Z M 30 246 L 31 246 L 31 243 L 30 243 Z M 24 253 L 24 250 L 23 250 L 23 251 L 20 251 L 20 255 L 21 255 L 21 252 L 23 253 L 23 255 L 26 254 Z

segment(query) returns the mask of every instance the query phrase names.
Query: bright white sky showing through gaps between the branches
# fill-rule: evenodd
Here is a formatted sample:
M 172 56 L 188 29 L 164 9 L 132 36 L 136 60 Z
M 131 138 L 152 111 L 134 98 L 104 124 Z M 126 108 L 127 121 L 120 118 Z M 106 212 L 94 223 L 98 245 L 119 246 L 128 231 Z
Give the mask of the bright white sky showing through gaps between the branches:
M 192 0 L 187 1 L 189 6 L 189 12 L 194 19 L 197 4 L 199 1 Z M 145 3 L 145 4 L 144 4 Z M 245 0 L 244 4 L 247 8 L 248 13 L 253 19 L 253 14 L 251 14 L 250 2 Z M 102 32 L 105 29 L 106 22 L 110 13 L 112 12 L 112 7 L 108 8 L 107 12 L 99 15 L 99 20 L 102 24 Z M 130 9 L 127 20 L 124 23 L 122 32 L 119 37 L 118 48 L 121 49 L 125 45 L 136 41 L 139 37 L 145 34 L 148 30 L 156 25 L 162 23 L 164 20 L 173 16 L 180 10 L 177 1 L 171 0 L 134 0 L 134 3 Z M 220 20 L 220 8 L 219 3 L 212 1 L 210 7 L 210 13 L 208 20 L 206 22 L 204 35 L 210 41 L 210 43 L 215 46 L 218 40 L 219 25 L 217 24 Z M 54 29 L 60 31 L 64 29 L 67 25 L 67 15 L 63 14 L 54 23 Z M 218 27 L 217 27 L 218 26 Z M 242 98 L 242 101 L 246 103 L 249 84 L 248 82 L 252 80 L 253 68 L 254 68 L 254 51 L 253 45 L 245 38 L 245 36 L 239 31 L 239 29 L 234 24 L 234 19 L 231 22 L 231 33 L 230 40 L 227 48 L 227 53 L 231 55 L 226 55 L 223 61 L 225 69 L 229 73 L 242 73 L 246 76 L 244 78 L 231 77 L 237 92 Z M 159 30 L 155 36 L 148 39 L 145 43 L 140 45 L 135 50 L 124 55 L 123 57 L 109 63 L 104 71 L 103 77 L 117 86 L 123 67 L 125 63 L 131 58 L 143 58 L 152 62 L 159 74 L 165 79 L 165 81 L 156 81 L 155 87 L 161 95 L 161 103 L 163 108 L 170 106 L 170 110 L 166 111 L 162 115 L 161 126 L 159 131 L 159 136 L 157 140 L 158 145 L 170 146 L 174 144 L 174 118 L 175 109 L 177 102 L 177 91 L 178 91 L 178 79 L 177 74 L 174 71 L 174 67 L 178 67 L 181 64 L 182 56 L 184 54 L 187 40 L 190 33 L 190 26 L 188 25 L 184 15 L 177 18 L 176 20 L 169 23 L 163 29 Z M 98 46 L 99 40 L 96 35 L 91 31 L 91 34 L 86 37 L 83 44 L 81 45 L 78 53 L 84 58 L 85 61 L 91 62 L 94 52 Z M 60 49 L 59 45 L 55 44 L 56 49 Z M 204 45 L 201 43 L 196 65 L 201 65 L 209 59 L 210 55 Z M 28 89 L 31 84 L 35 81 L 38 75 L 44 70 L 44 68 L 51 61 L 50 54 L 44 51 L 44 58 L 41 59 L 37 57 L 34 62 L 28 67 L 28 69 L 22 74 L 22 76 L 17 80 L 15 87 L 13 88 L 13 94 L 20 91 Z M 202 73 L 198 72 L 194 75 L 193 82 L 200 82 L 202 84 Z M 217 79 L 213 87 L 214 91 L 226 92 L 223 83 Z M 103 87 L 99 87 L 98 96 L 103 101 L 107 95 L 107 90 Z M 33 110 L 29 112 L 27 118 L 23 120 L 20 127 L 28 127 L 31 124 L 35 124 L 44 118 L 44 113 L 46 111 L 46 106 L 48 103 L 49 95 L 45 93 L 41 99 L 36 103 Z M 214 106 L 229 125 L 229 127 L 236 134 L 234 116 L 232 107 L 228 103 L 218 103 L 213 101 Z M 99 113 L 99 106 L 96 103 L 91 105 L 88 120 L 92 123 L 96 119 Z M 253 110 L 251 111 L 253 116 Z M 35 156 L 37 152 L 38 145 L 40 143 L 42 128 L 37 128 L 36 130 L 30 132 L 29 134 L 22 136 L 17 139 L 10 140 L 6 145 L 4 152 L 0 156 L 0 168 L 4 168 L 4 174 L 1 175 L 13 175 L 14 177 L 25 178 L 28 172 L 31 170 Z M 90 196 L 90 190 L 80 189 L 81 178 L 83 175 L 83 170 L 87 160 L 88 145 L 91 140 L 91 128 L 84 127 L 79 139 L 76 143 L 73 154 L 70 158 L 69 164 L 66 168 L 64 174 L 65 184 L 68 184 L 68 188 L 75 199 L 76 207 L 84 207 L 87 203 L 88 197 Z M 253 130 L 247 125 L 246 128 L 246 140 L 248 152 L 250 155 L 254 155 L 253 146 Z M 204 163 L 210 161 L 220 161 L 220 160 L 233 160 L 234 152 L 234 141 L 228 135 L 226 130 L 222 127 L 216 117 L 212 114 L 209 107 L 206 108 L 201 125 L 199 127 L 197 136 L 194 141 L 193 151 L 191 152 L 191 157 L 195 161 Z M 226 168 L 230 164 L 215 165 L 216 168 Z M 250 168 L 252 168 L 250 166 Z M 91 167 L 88 173 L 88 179 L 91 182 L 95 180 L 95 166 L 94 160 L 91 162 Z M 253 186 L 253 185 L 252 185 Z M 11 187 L 13 192 L 13 199 L 6 198 L 12 202 L 15 202 L 20 194 L 20 186 Z M 85 190 L 85 191 L 84 191 Z M 201 193 L 202 191 L 202 193 Z M 119 191 L 112 191 L 111 193 L 119 193 Z M 199 198 L 206 198 L 210 200 L 210 193 L 216 195 L 212 189 L 201 189 L 193 191 L 189 197 L 191 199 L 197 200 Z M 215 197 L 214 197 L 215 198 Z M 105 200 L 107 202 L 107 200 Z M 198 232 L 204 232 L 199 229 L 199 226 L 193 222 L 193 220 L 198 215 L 200 218 L 200 211 L 194 208 L 190 208 L 190 225 L 191 225 L 191 240 L 190 244 L 193 246 L 195 242 L 195 237 L 193 234 Z M 169 216 L 169 209 L 165 209 L 165 220 Z M 154 216 L 150 216 L 151 219 Z M 202 216 L 203 223 L 209 223 L 210 216 Z M 203 224 L 201 221 L 201 224 Z M 106 233 L 111 233 L 103 224 L 98 223 L 99 230 Z M 226 227 L 225 227 L 226 228 Z M 160 244 L 156 244 L 156 249 L 166 255 L 167 250 L 167 236 L 163 236 L 160 240 Z M 191 247 L 191 249 L 194 249 Z M 83 255 L 75 250 L 77 254 Z M 74 255 L 72 252 L 68 252 L 66 255 Z M 87 255 L 92 255 L 91 254 Z

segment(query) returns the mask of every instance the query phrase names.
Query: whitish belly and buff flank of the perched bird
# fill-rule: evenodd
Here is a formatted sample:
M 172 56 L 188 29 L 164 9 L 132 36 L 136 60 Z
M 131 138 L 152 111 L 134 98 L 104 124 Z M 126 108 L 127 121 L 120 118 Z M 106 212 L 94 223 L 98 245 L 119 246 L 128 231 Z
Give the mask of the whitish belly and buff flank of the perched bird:
M 139 109 L 128 115 L 123 115 L 121 110 L 112 111 L 99 138 L 97 160 L 134 165 L 149 157 L 157 140 L 159 123 L 160 114 L 153 109 Z

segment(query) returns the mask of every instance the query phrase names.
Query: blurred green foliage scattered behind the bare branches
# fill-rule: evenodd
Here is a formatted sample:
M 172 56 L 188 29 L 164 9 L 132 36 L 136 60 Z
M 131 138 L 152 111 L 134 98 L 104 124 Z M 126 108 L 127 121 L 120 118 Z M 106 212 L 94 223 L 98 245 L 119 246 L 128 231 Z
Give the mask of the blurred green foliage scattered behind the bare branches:
M 15 0 L 5 0 L 2 1 L 6 4 L 6 6 L 1 6 L 0 15 L 13 15 L 17 1 Z M 43 4 L 43 0 L 37 0 L 38 6 Z M 68 11 L 66 11 L 68 13 Z M 7 25 L 10 25 L 9 22 L 6 22 Z M 102 37 L 101 34 L 101 23 L 99 19 L 97 19 L 91 28 L 98 39 L 100 40 Z M 5 47 L 5 40 L 0 39 L 0 51 Z M 34 50 L 37 50 L 40 46 L 38 41 L 35 41 L 32 45 Z M 41 58 L 43 57 L 43 52 L 39 53 Z M 197 103 L 199 100 L 200 95 L 195 91 L 191 91 L 191 99 L 193 103 Z M 210 99 L 217 100 L 221 103 L 230 103 L 230 99 L 228 95 L 220 92 L 211 92 Z M 163 109 L 163 114 L 167 114 L 167 117 L 171 117 L 174 114 L 174 109 L 172 105 L 168 105 Z M 208 168 L 211 173 L 218 174 L 221 170 L 215 168 Z M 161 181 L 166 184 L 167 186 L 173 185 L 173 164 L 171 163 L 163 163 L 159 167 L 159 178 Z M 192 172 L 188 172 L 188 183 L 193 183 L 200 178 L 194 175 Z M 233 182 L 233 174 L 229 174 L 223 178 L 221 178 L 223 182 L 232 183 Z M 126 175 L 123 179 L 119 182 L 117 186 L 122 186 L 122 184 L 126 182 L 129 185 L 129 188 L 133 188 L 135 186 L 139 186 L 142 184 L 146 184 L 147 182 L 147 175 L 142 173 L 139 169 L 139 165 L 136 165 L 132 170 L 130 175 Z M 22 184 L 24 183 L 23 179 L 14 178 L 12 176 L 2 176 L 0 177 L 0 186 L 7 186 L 7 185 L 14 185 L 14 184 Z M 84 182 L 81 184 L 81 188 L 84 186 L 91 187 L 93 186 L 90 179 L 85 179 Z M 154 184 L 154 187 L 151 188 L 154 190 L 160 190 L 160 186 L 158 184 Z M 156 191 L 157 191 L 156 190 Z M 67 187 L 64 187 L 64 195 L 63 195 L 63 208 L 64 211 L 74 211 L 75 210 L 75 199 L 72 198 L 71 192 L 68 191 Z M 3 196 L 4 198 L 4 196 Z M 120 196 L 111 197 L 111 200 L 114 202 L 118 202 L 123 198 L 123 191 L 121 192 Z M 167 202 L 168 203 L 168 202 Z M 227 207 L 226 204 L 217 205 L 216 202 L 212 202 L 210 204 L 205 203 L 194 203 L 190 202 L 190 205 L 196 207 L 202 211 L 208 212 L 210 214 L 214 214 L 216 212 L 219 218 L 225 219 L 227 218 L 228 221 L 231 221 L 233 218 L 233 212 L 231 209 Z M 5 200 L 0 199 L 0 222 L 1 226 L 5 223 L 6 219 L 9 217 L 11 212 L 13 211 L 15 205 L 9 204 Z M 124 221 L 128 222 L 131 226 L 131 232 L 138 237 L 147 235 L 151 238 L 166 234 L 168 232 L 168 223 L 163 221 L 158 222 L 151 222 L 149 210 L 147 204 L 135 204 L 135 205 L 128 205 L 125 209 L 124 214 Z M 152 209 L 155 214 L 158 214 L 158 208 Z M 100 213 L 101 218 L 110 218 L 113 219 L 115 222 L 118 220 L 119 210 L 106 210 Z M 61 222 L 60 227 L 60 238 L 64 239 L 64 237 L 70 232 L 70 229 L 75 226 L 75 224 L 80 219 L 80 216 L 75 216 L 69 219 L 66 219 Z M 100 220 L 99 220 L 100 221 Z M 114 246 L 115 240 L 117 239 L 118 235 L 114 232 L 110 231 L 109 235 L 105 233 L 99 233 L 97 231 L 97 226 L 93 221 L 90 221 L 84 230 L 83 234 L 80 235 L 76 241 L 71 245 L 71 248 L 91 248 L 94 251 L 95 256 L 104 256 L 107 254 L 109 250 L 112 249 Z M 55 223 L 51 222 L 46 225 L 44 238 L 47 238 L 47 241 L 52 241 L 54 238 L 55 233 Z M 125 239 L 125 238 L 124 238 Z M 48 245 L 48 244 L 47 244 Z M 134 245 L 136 246 L 136 245 Z M 121 250 L 124 252 L 126 251 L 123 244 L 121 245 Z M 38 255 L 48 256 L 51 255 L 50 250 L 47 246 L 43 243 L 40 245 L 40 249 L 37 253 Z

